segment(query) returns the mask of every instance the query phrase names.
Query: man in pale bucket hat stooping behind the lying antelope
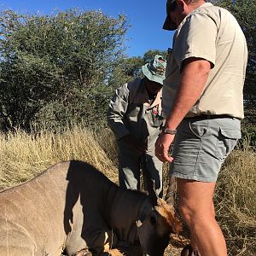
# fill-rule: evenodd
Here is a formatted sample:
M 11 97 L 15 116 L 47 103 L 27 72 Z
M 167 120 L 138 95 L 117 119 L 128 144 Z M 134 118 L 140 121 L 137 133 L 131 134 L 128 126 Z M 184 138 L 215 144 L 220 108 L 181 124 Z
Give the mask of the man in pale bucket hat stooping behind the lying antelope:
M 143 79 L 135 79 L 115 91 L 108 108 L 108 125 L 117 140 L 119 185 L 140 189 L 140 169 L 145 190 L 162 196 L 162 162 L 154 155 L 154 143 L 163 123 L 161 89 L 166 61 L 160 55 L 143 66 Z

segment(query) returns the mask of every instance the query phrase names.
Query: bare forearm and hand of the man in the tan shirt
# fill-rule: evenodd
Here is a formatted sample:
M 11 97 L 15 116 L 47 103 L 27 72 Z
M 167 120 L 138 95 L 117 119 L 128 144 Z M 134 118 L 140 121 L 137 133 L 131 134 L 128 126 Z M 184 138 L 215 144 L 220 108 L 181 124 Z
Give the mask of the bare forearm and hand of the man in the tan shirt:
M 177 125 L 180 124 L 189 109 L 195 105 L 205 88 L 210 69 L 210 62 L 203 59 L 189 58 L 183 62 L 176 100 L 166 119 L 165 126 L 168 129 L 177 129 Z M 161 134 L 155 143 L 155 154 L 161 161 L 172 161 L 172 157 L 168 156 L 168 150 L 173 138 L 174 135 Z

